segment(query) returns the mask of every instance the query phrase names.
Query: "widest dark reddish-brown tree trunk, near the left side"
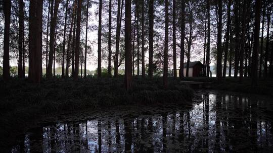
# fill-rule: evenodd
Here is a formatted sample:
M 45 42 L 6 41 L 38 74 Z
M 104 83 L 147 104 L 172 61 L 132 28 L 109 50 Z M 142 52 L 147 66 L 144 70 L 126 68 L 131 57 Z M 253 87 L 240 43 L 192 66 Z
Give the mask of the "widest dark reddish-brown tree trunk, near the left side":
M 42 51 L 42 0 L 29 3 L 29 71 L 28 79 L 34 83 L 41 81 Z

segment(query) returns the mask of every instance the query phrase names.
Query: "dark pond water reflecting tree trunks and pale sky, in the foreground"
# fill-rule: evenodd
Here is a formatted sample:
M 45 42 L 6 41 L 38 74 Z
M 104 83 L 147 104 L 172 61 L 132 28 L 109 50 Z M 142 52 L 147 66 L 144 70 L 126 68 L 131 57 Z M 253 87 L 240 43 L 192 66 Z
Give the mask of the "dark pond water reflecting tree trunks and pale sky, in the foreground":
M 186 107 L 81 113 L 29 130 L 11 151 L 272 152 L 272 102 L 256 95 L 199 91 Z

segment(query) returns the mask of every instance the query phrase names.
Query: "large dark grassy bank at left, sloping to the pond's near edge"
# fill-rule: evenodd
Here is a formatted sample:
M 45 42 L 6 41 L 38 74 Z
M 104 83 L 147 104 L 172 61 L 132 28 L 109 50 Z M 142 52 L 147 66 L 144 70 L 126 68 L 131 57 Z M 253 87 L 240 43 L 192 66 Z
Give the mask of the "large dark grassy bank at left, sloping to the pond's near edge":
M 0 135 L 9 137 L 15 129 L 20 133 L 27 121 L 45 114 L 128 104 L 183 104 L 191 100 L 193 91 L 178 82 L 170 79 L 168 88 L 164 89 L 161 78 L 135 78 L 132 91 L 126 92 L 123 78 L 44 80 L 40 85 L 19 79 L 0 81 Z

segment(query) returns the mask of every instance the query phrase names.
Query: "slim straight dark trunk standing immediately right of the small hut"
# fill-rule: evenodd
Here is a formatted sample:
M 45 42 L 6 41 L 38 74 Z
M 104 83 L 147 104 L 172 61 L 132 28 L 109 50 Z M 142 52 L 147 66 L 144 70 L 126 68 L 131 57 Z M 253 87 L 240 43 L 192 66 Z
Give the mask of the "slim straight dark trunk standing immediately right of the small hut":
M 207 18 L 208 18 L 208 43 L 207 43 L 207 57 L 206 57 L 206 61 L 207 61 L 207 77 L 209 77 L 209 72 L 210 72 L 210 0 L 207 0 Z

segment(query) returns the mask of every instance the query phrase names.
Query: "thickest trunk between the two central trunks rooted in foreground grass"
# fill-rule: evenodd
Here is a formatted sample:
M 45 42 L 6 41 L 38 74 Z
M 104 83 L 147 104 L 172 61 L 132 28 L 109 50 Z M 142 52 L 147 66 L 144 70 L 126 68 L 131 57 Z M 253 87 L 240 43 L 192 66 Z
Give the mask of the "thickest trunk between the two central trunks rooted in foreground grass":
M 154 0 L 149 0 L 149 68 L 148 75 L 153 77 L 154 54 Z

